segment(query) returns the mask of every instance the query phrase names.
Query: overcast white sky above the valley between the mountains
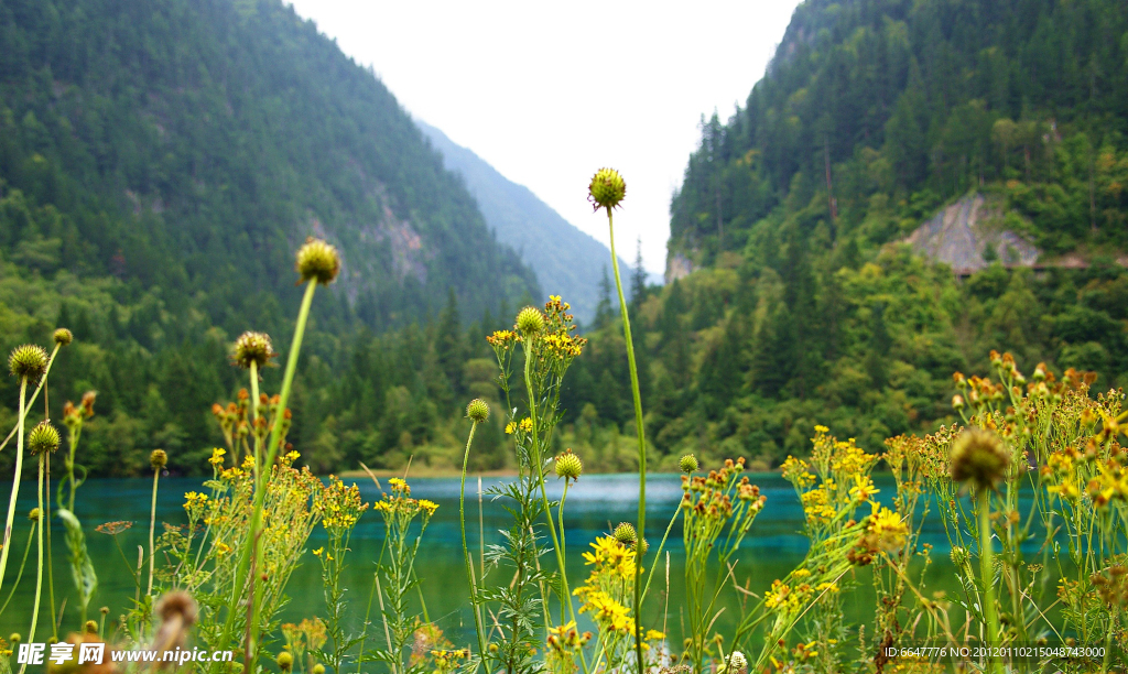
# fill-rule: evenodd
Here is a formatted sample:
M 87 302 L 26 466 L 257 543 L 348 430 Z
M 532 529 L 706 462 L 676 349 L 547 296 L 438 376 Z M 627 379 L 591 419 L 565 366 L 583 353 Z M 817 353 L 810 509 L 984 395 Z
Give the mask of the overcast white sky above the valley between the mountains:
M 413 116 L 608 241 L 588 181 L 618 169 L 616 252 L 666 267 L 670 196 L 702 114 L 743 106 L 797 0 L 292 0 Z

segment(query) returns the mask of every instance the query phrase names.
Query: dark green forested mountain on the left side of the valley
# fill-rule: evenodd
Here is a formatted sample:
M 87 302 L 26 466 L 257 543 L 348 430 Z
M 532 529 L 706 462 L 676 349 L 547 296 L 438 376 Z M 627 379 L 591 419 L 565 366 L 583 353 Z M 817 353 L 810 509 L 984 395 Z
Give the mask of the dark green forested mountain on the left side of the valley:
M 50 400 L 99 391 L 95 470 L 152 446 L 205 468 L 208 410 L 241 380 L 228 345 L 258 329 L 284 353 L 311 234 L 344 266 L 315 302 L 307 373 L 343 366 L 358 330 L 539 295 L 395 97 L 292 8 L 0 0 L 0 346 L 74 330 Z

